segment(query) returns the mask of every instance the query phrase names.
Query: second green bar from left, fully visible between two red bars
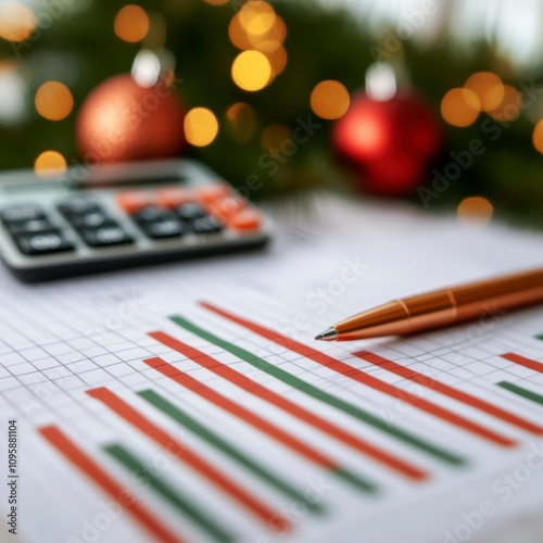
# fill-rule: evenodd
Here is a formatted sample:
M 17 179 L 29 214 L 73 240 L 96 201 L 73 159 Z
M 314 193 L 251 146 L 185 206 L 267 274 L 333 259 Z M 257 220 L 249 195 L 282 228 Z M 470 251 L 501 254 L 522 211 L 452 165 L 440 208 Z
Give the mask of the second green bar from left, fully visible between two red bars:
M 238 464 L 252 471 L 256 477 L 260 477 L 264 481 L 275 487 L 279 492 L 282 492 L 293 500 L 303 502 L 312 513 L 316 513 L 319 515 L 325 513 L 325 509 L 321 505 L 312 503 L 311 501 L 306 501 L 301 492 L 295 490 L 289 483 L 285 482 L 272 471 L 268 471 L 266 468 L 254 462 L 251 457 L 247 456 L 239 449 L 225 441 L 217 433 L 214 433 L 205 426 L 202 426 L 198 420 L 192 418 L 190 415 L 187 415 L 187 413 L 181 411 L 179 407 L 169 403 L 162 395 L 152 390 L 142 390 L 141 392 L 138 392 L 138 394 L 147 400 L 150 404 L 154 405 L 157 409 L 188 428 L 191 432 L 200 435 L 200 438 L 205 440 L 215 449 L 218 449 L 224 454 L 236 460 Z

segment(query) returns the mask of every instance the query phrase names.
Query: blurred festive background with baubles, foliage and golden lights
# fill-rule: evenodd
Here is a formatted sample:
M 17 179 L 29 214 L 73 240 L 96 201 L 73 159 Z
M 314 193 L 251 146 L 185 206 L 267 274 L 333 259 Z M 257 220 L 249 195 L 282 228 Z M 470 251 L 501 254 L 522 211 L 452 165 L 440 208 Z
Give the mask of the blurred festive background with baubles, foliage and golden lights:
M 0 1 L 0 169 L 185 155 L 543 226 L 538 0 Z

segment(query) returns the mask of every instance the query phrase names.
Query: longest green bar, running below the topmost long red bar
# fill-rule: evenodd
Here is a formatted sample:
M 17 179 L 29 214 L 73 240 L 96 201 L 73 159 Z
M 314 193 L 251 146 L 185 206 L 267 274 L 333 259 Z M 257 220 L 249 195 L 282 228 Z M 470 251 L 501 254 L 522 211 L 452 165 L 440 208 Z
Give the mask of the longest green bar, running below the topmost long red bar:
M 370 413 L 367 413 L 361 409 L 359 407 L 356 407 L 355 405 L 352 405 L 348 402 L 344 402 L 343 400 L 340 400 L 337 396 L 333 396 L 331 394 L 328 394 L 327 392 L 321 391 L 320 389 L 317 389 L 313 384 L 310 384 L 303 381 L 302 379 L 294 377 L 293 375 L 289 374 L 288 371 L 285 371 L 283 369 L 278 368 L 277 366 L 274 366 L 273 364 L 269 364 L 265 359 L 260 358 L 258 356 L 250 353 L 249 351 L 245 351 L 244 349 L 241 349 L 237 345 L 233 345 L 232 343 L 229 343 L 225 340 L 222 340 L 220 338 L 217 338 L 216 336 L 213 336 L 212 333 L 203 330 L 202 328 L 199 328 L 198 326 L 193 325 L 192 323 L 179 316 L 172 316 L 169 318 L 176 325 L 179 325 L 181 328 L 185 328 L 186 330 L 189 330 L 190 332 L 199 336 L 200 338 L 209 341 L 210 343 L 213 343 L 224 349 L 225 351 L 228 351 L 229 353 L 233 354 L 235 356 L 238 356 L 239 358 L 247 362 L 256 369 L 260 369 L 261 371 L 264 371 L 275 377 L 276 379 L 279 379 L 280 381 L 289 384 L 290 387 L 293 387 L 300 390 L 301 392 L 304 392 L 305 394 L 308 394 L 310 396 L 319 400 L 320 402 L 327 403 L 328 405 L 331 405 L 337 409 L 340 409 L 343 413 L 346 413 L 357 418 L 358 420 L 362 420 L 363 422 L 372 426 L 374 428 L 377 428 L 390 435 L 393 435 L 394 438 L 405 443 L 408 443 L 409 445 L 413 445 L 419 449 L 420 451 L 425 451 L 426 453 L 443 462 L 446 462 L 447 464 L 456 466 L 466 464 L 465 458 L 462 458 L 460 456 L 457 456 L 454 453 L 451 453 L 437 445 L 433 445 L 432 443 L 422 440 L 421 438 L 418 438 L 415 434 L 401 430 L 400 428 L 391 427 L 387 422 L 384 422 L 384 420 L 375 417 Z

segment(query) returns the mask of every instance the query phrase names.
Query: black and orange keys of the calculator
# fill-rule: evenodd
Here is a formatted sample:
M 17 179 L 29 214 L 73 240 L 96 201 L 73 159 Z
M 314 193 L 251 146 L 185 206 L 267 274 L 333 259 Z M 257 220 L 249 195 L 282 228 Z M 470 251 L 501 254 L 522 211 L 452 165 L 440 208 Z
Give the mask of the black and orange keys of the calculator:
M 147 239 L 160 241 L 185 236 L 207 237 L 225 230 L 256 231 L 262 217 L 257 210 L 223 182 L 189 190 L 185 187 L 136 189 L 116 194 L 121 213 L 128 215 Z M 127 245 L 136 242 L 96 197 L 77 195 L 55 204 L 72 227 L 68 235 L 49 212 L 38 204 L 22 203 L 0 211 L 0 220 L 25 255 L 75 251 L 74 236 L 92 249 Z

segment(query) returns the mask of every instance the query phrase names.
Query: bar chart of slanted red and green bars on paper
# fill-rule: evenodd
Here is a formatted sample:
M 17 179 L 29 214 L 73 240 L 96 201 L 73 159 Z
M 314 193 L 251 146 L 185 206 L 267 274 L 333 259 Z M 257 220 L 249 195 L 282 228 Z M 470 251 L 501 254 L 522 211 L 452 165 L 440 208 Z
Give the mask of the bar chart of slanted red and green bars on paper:
M 108 386 L 99 386 L 87 389 L 85 394 L 93 403 L 100 404 L 108 416 L 131 428 L 154 446 L 166 451 L 175 463 L 204 479 L 222 498 L 233 504 L 241 520 L 247 516 L 252 517 L 255 523 L 262 526 L 264 533 L 276 533 L 285 538 L 295 536 L 300 530 L 300 520 L 291 518 L 285 507 L 277 506 L 281 502 L 300 504 L 306 512 L 302 522 L 316 522 L 317 526 L 324 519 L 329 519 L 333 509 L 333 503 L 327 501 L 326 496 L 317 500 L 306 489 L 293 482 L 291 473 L 283 466 L 278 464 L 270 467 L 269 463 L 262 462 L 262 454 L 268 442 L 275 443 L 283 454 L 292 457 L 294 465 L 311 465 L 312 469 L 333 481 L 334 485 L 344 488 L 354 496 L 358 495 L 361 504 L 365 504 L 379 503 L 394 492 L 394 489 L 387 487 L 387 477 L 403 481 L 402 484 L 407 487 L 420 488 L 431 487 L 439 479 L 440 471 L 453 473 L 453 477 L 454 473 L 468 473 L 478 460 L 472 456 L 471 447 L 466 445 L 480 443 L 487 447 L 485 451 L 496 450 L 506 454 L 520 446 L 522 441 L 528 442 L 543 435 L 543 426 L 536 422 L 538 419 L 543 420 L 541 389 L 538 391 L 518 382 L 498 381 L 494 387 L 505 394 L 505 401 L 496 403 L 374 352 L 352 350 L 352 357 L 364 363 L 357 367 L 352 362 L 317 351 L 218 305 L 202 302 L 200 307 L 240 330 L 244 329 L 255 341 L 272 341 L 315 367 L 325 367 L 342 379 L 352 381 L 352 390 L 367 389 L 383 397 L 401 400 L 409 408 L 420 412 L 421 416 L 435 420 L 439 428 L 443 429 L 440 435 L 437 432 L 429 433 L 421 427 L 390 424 L 359 403 L 324 390 L 303 376 L 294 375 L 267 361 L 265 356 L 249 351 L 232 339 L 222 337 L 212 331 L 205 321 L 197 323 L 182 313 L 171 315 L 168 320 L 175 328 L 169 328 L 169 331 L 147 331 L 148 337 L 165 350 L 164 354 L 142 358 L 141 363 L 153 379 L 164 379 L 174 389 L 165 391 L 159 386 L 144 387 L 119 395 Z M 187 338 L 192 338 L 192 341 Z M 193 346 L 197 344 L 198 346 Z M 217 354 L 210 354 L 211 351 Z M 167 362 L 168 354 L 180 355 L 180 361 Z M 222 362 L 220 358 L 225 355 L 235 363 Z M 513 367 L 520 366 L 534 374 L 543 372 L 543 363 L 521 354 L 503 353 L 500 357 Z M 191 370 L 192 366 L 185 367 L 184 361 L 190 362 L 213 379 L 199 378 L 198 372 Z M 244 364 L 251 371 L 241 369 L 238 363 Z M 377 377 L 371 372 L 372 368 L 400 380 L 392 383 L 390 379 Z M 263 384 L 263 378 L 275 382 L 276 387 Z M 254 397 L 258 403 L 254 408 L 248 408 L 242 402 L 233 400 L 231 394 L 225 395 L 219 391 L 223 382 L 232 390 L 242 391 L 247 397 Z M 408 394 L 402 383 L 416 383 L 430 391 L 431 397 Z M 277 392 L 277 386 L 286 391 L 294 391 L 295 397 Z M 178 393 L 172 393 L 173 390 L 178 390 Z M 190 406 L 184 402 L 186 393 L 223 413 L 225 419 L 236 419 L 238 425 L 248 428 L 256 435 L 256 443 L 262 440 L 262 449 L 248 452 L 235 432 L 225 437 L 217 428 L 216 420 L 205 422 L 201 417 L 194 416 Z M 300 400 L 305 396 L 311 399 L 311 404 L 304 405 Z M 464 408 L 455 411 L 452 406 L 439 403 L 438 397 L 452 400 L 454 405 L 462 404 Z M 518 413 L 516 401 L 519 399 L 533 405 L 533 416 L 527 418 Z M 136 401 L 141 402 L 139 407 L 135 406 Z M 312 408 L 316 404 L 326 407 L 326 415 Z M 298 425 L 308 428 L 312 435 L 320 435 L 326 446 L 315 444 L 318 440 L 306 440 L 305 434 L 292 431 L 289 425 L 285 427 L 282 419 L 269 416 L 262 408 L 266 405 L 275 409 L 273 413 L 281 412 Z M 141 406 L 147 406 L 148 409 L 143 411 Z M 351 428 L 346 428 L 344 424 L 336 424 L 328 415 L 330 412 L 337 412 L 346 420 L 352 420 Z M 468 413 L 479 413 L 483 418 Z M 211 462 L 206 455 L 193 450 L 190 442 L 162 427 L 151 414 L 167 418 L 173 425 L 204 442 L 219 460 Z M 495 424 L 483 422 L 490 419 Z M 366 429 L 371 432 L 368 433 Z M 447 439 L 449 429 L 460 433 L 464 439 L 456 442 Z M 153 472 L 137 447 L 121 437 L 117 441 L 99 444 L 100 453 L 111 459 L 111 464 L 105 466 L 100 463 L 94 451 L 84 450 L 78 445 L 62 428 L 62 424 L 39 426 L 37 431 L 58 455 L 86 477 L 99 492 L 121 504 L 131 521 L 143 529 L 151 540 L 191 541 L 193 535 L 186 536 L 178 528 L 161 521 L 153 507 L 146 504 L 143 496 L 135 495 L 123 487 L 123 477 L 119 477 L 122 472 L 137 473 L 142 478 L 150 493 L 164 507 L 176 512 L 181 523 L 190 527 L 191 534 L 198 533 L 203 540 L 217 542 L 245 539 L 237 530 L 236 522 L 211 513 L 209 504 L 201 496 L 193 496 L 190 490 L 179 488 L 175 481 L 168 480 L 167 473 Z M 384 441 L 371 439 L 372 435 L 380 434 L 387 445 L 383 444 Z M 334 454 L 336 446 L 349 451 L 348 457 L 355 460 L 344 464 L 342 455 Z M 402 451 L 411 451 L 411 454 L 404 455 Z M 227 469 L 229 464 L 220 458 L 235 464 L 237 469 L 247 473 L 247 478 L 240 480 L 230 475 Z M 116 466 L 118 473 L 111 466 Z M 382 473 L 387 473 L 387 477 L 381 477 Z M 251 484 L 252 480 L 257 480 L 258 484 Z M 269 494 L 260 495 L 261 488 L 269 489 L 277 496 L 277 500 L 273 500 L 275 503 L 268 501 Z

